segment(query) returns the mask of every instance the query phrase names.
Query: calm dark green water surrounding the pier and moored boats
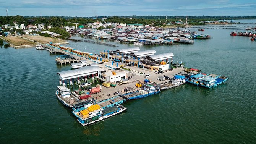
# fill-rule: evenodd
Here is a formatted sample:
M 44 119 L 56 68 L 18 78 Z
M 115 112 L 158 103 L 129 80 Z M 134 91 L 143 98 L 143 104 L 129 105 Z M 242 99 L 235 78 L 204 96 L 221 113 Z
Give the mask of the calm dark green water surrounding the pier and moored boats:
M 123 104 L 126 112 L 86 127 L 55 96 L 57 72 L 70 66 L 56 65 L 56 55 L 45 50 L 2 48 L 0 143 L 255 143 L 256 42 L 230 32 L 206 29 L 199 33 L 213 39 L 141 47 L 173 52 L 174 61 L 187 67 L 228 76 L 225 84 L 214 89 L 185 84 L 131 100 Z M 117 49 L 83 42 L 69 46 L 94 53 Z

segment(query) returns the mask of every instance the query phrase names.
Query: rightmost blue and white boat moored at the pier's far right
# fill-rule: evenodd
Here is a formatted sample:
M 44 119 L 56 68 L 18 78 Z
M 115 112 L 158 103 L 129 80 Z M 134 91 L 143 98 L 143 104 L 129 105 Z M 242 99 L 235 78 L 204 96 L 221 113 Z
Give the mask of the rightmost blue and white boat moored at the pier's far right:
M 228 78 L 225 76 L 210 74 L 200 80 L 199 86 L 212 88 L 212 87 L 215 87 L 215 86 L 218 86 L 218 85 L 224 83 L 227 80 L 228 80 Z

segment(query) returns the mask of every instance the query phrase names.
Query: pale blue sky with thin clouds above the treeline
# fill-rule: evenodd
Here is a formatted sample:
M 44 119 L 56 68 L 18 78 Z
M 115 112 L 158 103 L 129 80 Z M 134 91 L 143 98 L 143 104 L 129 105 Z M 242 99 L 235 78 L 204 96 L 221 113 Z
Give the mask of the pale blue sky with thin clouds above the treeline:
M 0 16 L 256 16 L 256 0 L 4 0 Z

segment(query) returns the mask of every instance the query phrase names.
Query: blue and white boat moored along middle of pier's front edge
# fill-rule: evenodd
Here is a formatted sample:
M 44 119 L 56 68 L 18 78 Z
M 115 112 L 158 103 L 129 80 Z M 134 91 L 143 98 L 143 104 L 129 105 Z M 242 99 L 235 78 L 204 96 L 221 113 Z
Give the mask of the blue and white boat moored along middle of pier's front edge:
M 161 89 L 158 84 L 149 83 L 149 84 L 143 84 L 140 90 L 123 94 L 121 95 L 121 97 L 125 98 L 126 100 L 141 99 L 143 97 L 148 97 L 150 95 L 158 94 L 160 92 L 161 92 Z

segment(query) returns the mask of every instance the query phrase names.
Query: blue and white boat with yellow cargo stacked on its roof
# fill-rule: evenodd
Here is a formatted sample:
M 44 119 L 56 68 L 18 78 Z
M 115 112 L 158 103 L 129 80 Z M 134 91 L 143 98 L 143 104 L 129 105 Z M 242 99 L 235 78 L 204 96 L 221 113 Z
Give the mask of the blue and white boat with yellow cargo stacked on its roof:
M 94 108 L 91 108 L 91 107 L 94 107 Z M 91 107 L 88 107 L 87 109 L 82 110 L 78 116 L 77 121 L 83 126 L 87 126 L 92 123 L 96 123 L 97 121 L 101 121 L 106 118 L 109 118 L 110 116 L 117 115 L 118 113 L 121 113 L 127 109 L 122 105 L 116 105 L 116 106 L 108 107 L 105 109 L 102 109 L 97 104 L 92 105 Z

